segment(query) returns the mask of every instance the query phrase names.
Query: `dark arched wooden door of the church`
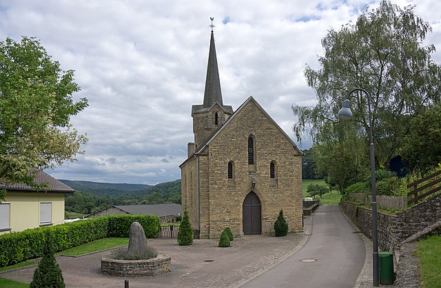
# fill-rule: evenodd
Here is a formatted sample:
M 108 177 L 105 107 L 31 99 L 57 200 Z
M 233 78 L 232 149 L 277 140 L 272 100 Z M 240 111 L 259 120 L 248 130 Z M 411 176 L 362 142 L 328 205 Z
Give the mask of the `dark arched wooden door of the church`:
M 242 210 L 243 234 L 262 234 L 262 206 L 254 192 L 249 192 L 245 197 Z

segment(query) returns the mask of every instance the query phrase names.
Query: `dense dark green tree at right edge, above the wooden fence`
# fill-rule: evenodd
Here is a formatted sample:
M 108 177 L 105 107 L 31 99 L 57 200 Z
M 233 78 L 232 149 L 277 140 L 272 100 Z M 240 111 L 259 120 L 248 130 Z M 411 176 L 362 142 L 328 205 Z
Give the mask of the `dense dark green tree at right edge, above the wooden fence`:
M 409 168 L 423 172 L 441 163 L 441 103 L 436 103 L 410 123 L 404 137 L 402 156 Z

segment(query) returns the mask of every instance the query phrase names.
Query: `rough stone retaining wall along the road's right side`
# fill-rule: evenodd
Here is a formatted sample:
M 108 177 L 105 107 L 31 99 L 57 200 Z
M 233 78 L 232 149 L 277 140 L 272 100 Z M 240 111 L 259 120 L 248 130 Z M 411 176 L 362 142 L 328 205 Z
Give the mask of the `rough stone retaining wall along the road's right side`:
M 356 203 L 342 202 L 342 210 L 361 232 L 372 238 L 372 211 Z M 441 194 L 399 214 L 378 212 L 378 245 L 383 250 L 400 246 L 402 241 L 441 219 Z

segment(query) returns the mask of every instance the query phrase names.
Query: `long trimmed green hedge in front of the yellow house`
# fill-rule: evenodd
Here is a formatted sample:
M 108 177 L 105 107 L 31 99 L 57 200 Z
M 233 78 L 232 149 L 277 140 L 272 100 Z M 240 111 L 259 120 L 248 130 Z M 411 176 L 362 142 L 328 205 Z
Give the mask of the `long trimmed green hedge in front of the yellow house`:
M 45 231 L 50 232 L 55 251 L 63 251 L 102 238 L 128 237 L 133 222 L 143 226 L 147 238 L 158 236 L 159 218 L 152 215 L 100 216 L 0 235 L 0 267 L 42 256 Z

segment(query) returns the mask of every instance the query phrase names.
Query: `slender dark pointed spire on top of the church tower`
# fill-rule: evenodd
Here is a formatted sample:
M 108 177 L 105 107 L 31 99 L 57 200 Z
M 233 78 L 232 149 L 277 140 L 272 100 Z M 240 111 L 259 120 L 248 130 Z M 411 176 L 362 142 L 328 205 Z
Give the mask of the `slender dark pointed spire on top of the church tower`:
M 222 102 L 222 92 L 220 92 L 220 80 L 219 80 L 219 70 L 218 70 L 218 60 L 216 57 L 216 46 L 214 45 L 214 32 L 213 23 L 212 27 L 212 38 L 209 41 L 209 54 L 208 54 L 208 65 L 207 65 L 207 78 L 205 80 L 205 93 L 204 93 L 204 108 L 212 107 L 214 103 L 223 105 Z

